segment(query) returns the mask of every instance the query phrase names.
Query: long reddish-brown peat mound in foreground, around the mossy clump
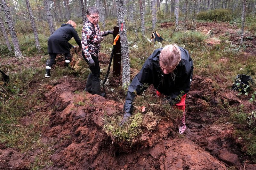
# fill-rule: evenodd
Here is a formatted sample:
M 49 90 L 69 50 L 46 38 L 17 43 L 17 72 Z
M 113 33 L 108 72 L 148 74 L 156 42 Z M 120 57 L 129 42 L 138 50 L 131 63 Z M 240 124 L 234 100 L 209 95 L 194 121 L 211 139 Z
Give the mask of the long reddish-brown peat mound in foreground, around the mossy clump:
M 78 91 L 82 91 L 80 82 L 69 79 L 44 95 L 51 122 L 45 137 L 56 141 L 50 158 L 53 165 L 45 169 L 226 169 L 197 144 L 175 133 L 155 131 L 161 140 L 151 147 L 112 143 L 102 130 L 102 116 L 122 113 L 123 104 Z M 168 128 L 162 124 L 158 129 L 167 132 Z

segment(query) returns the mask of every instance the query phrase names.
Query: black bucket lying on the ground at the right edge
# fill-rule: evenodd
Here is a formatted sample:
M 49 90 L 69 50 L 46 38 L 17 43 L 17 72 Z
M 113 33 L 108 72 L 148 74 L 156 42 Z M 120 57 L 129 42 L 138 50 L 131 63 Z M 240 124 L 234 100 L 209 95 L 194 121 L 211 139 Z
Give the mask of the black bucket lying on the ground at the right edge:
M 238 74 L 235 78 L 235 82 L 232 85 L 232 89 L 245 93 L 245 91 L 250 89 L 249 82 L 253 83 L 251 76 Z

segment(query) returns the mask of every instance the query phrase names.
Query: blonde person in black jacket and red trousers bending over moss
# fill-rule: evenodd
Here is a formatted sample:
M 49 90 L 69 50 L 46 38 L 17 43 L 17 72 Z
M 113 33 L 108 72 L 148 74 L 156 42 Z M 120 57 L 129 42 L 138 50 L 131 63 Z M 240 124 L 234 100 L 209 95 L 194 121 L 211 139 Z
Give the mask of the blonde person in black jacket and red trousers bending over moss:
M 183 111 L 179 127 L 179 133 L 183 134 L 186 129 L 185 99 L 190 89 L 193 68 L 193 61 L 186 49 L 177 45 L 167 45 L 164 48 L 156 49 L 128 87 L 121 125 L 131 117 L 132 101 L 136 95 L 134 92 L 140 94 L 147 88 L 143 84 L 153 84 L 158 97 L 164 95 L 165 102 L 167 101 L 170 105 Z M 181 92 L 183 92 L 182 97 L 178 99 L 177 96 Z

